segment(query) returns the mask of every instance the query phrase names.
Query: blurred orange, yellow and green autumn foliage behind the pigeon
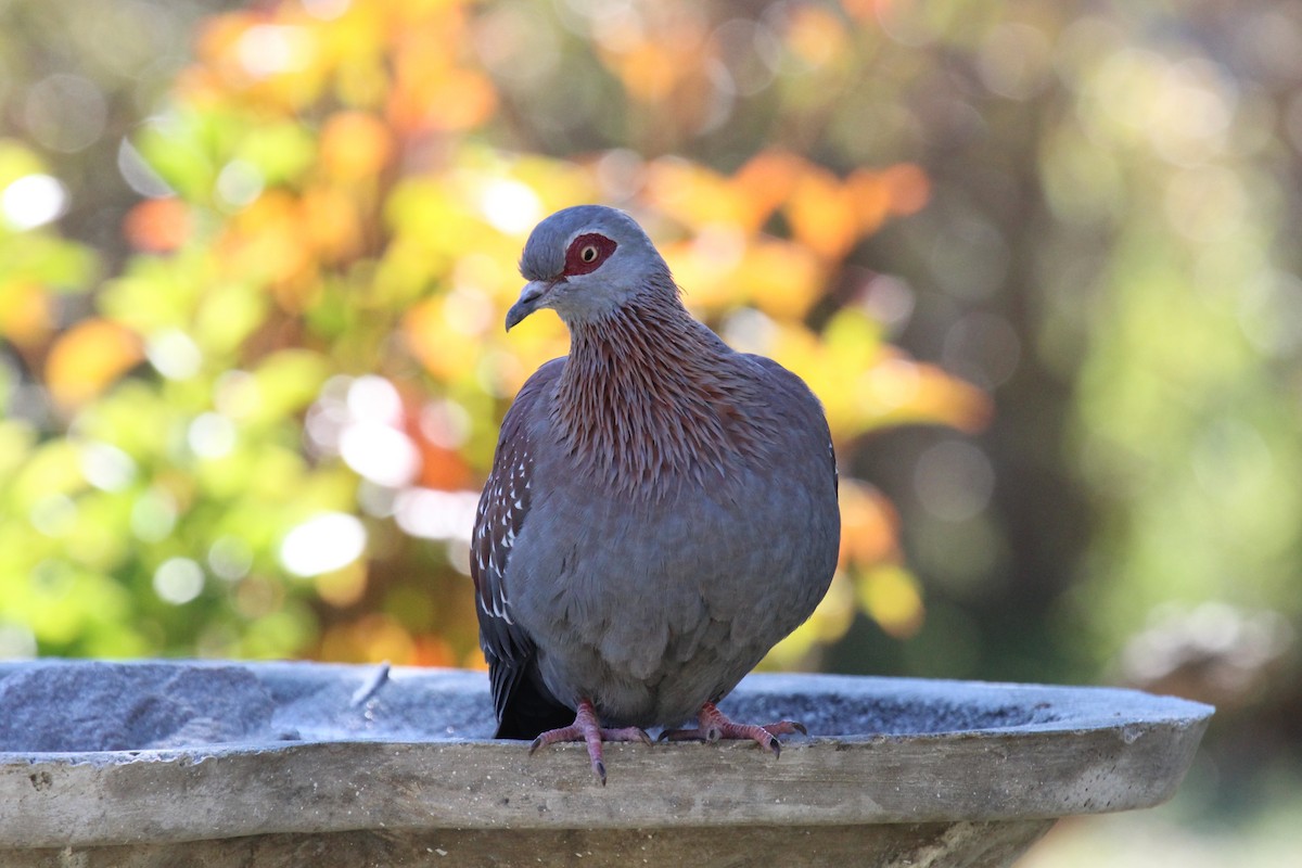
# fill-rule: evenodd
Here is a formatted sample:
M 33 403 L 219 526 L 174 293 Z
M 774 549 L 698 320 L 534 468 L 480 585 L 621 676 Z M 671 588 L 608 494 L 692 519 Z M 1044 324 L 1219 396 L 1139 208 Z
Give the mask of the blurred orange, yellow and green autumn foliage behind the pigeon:
M 108 99 L 91 77 L 31 85 L 36 142 L 0 150 L 0 651 L 479 665 L 477 487 L 510 397 L 566 347 L 555 318 L 510 340 L 501 321 L 527 232 L 569 204 L 633 210 L 699 316 L 823 396 L 840 449 L 978 429 L 987 397 L 887 344 L 850 265 L 927 203 L 927 174 L 811 154 L 829 83 L 867 79 L 880 30 L 854 9 L 734 13 L 211 16 L 120 139 L 125 255 L 57 234 L 79 191 L 36 147 L 89 147 L 107 121 L 86 107 Z M 842 489 L 840 579 L 775 664 L 812 665 L 855 610 L 900 638 L 923 623 L 893 509 Z

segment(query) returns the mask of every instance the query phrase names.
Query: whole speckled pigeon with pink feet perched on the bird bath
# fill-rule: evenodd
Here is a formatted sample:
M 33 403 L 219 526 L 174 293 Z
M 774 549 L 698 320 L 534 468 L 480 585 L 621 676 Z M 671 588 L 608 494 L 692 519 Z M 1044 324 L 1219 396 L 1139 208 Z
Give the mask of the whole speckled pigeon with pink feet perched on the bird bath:
M 818 398 L 682 306 L 622 211 L 540 223 L 506 329 L 551 307 L 569 355 L 506 413 L 471 543 L 499 738 L 754 739 L 715 705 L 827 592 L 840 540 Z M 608 729 L 609 727 L 609 729 Z

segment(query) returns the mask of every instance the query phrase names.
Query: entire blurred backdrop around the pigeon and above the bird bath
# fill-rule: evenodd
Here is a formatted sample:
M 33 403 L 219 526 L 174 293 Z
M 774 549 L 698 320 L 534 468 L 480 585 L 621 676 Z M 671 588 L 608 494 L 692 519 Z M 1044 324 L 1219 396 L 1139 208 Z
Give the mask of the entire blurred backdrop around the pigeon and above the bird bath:
M 551 211 L 801 373 L 841 570 L 771 668 L 1215 703 L 1032 868 L 1295 864 L 1302 3 L 0 0 L 0 657 L 482 666 Z

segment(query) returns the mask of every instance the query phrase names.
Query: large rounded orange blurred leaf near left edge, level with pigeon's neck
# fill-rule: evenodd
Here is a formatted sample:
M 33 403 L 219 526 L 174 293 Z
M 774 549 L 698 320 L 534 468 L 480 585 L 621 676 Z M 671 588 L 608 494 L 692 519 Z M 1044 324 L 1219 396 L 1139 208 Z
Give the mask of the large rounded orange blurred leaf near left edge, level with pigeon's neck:
M 139 337 L 107 319 L 78 323 L 46 357 L 46 385 L 65 410 L 86 403 L 143 358 Z

